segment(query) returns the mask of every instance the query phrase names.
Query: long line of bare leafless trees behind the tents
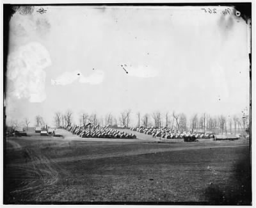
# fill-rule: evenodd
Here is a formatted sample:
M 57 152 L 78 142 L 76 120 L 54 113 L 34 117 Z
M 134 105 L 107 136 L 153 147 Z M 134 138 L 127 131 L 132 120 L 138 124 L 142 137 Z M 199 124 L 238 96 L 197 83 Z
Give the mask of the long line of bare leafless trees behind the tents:
M 107 113 L 104 116 L 100 116 L 97 113 L 79 113 L 79 120 L 76 122 L 73 119 L 74 113 L 68 109 L 65 113 L 57 111 L 54 113 L 54 126 L 56 128 L 66 127 L 67 125 L 77 124 L 85 126 L 88 123 L 93 125 L 110 125 L 113 127 L 156 127 L 163 128 L 167 127 L 170 129 L 177 129 L 179 131 L 201 131 L 201 132 L 214 132 L 216 134 L 227 134 L 230 133 L 244 133 L 248 131 L 249 116 L 248 109 L 245 108 L 241 111 L 241 116 L 237 115 L 218 115 L 211 116 L 207 113 L 198 114 L 195 113 L 193 116 L 188 118 L 185 113 L 172 113 L 166 112 L 161 113 L 160 111 L 154 111 L 153 113 L 133 113 L 131 109 L 122 111 L 119 116 L 114 116 L 112 113 Z M 27 129 L 31 122 L 28 118 L 24 118 L 22 122 L 26 125 Z M 45 122 L 42 116 L 35 116 L 36 126 L 45 127 Z M 17 120 L 12 121 L 12 126 L 18 126 Z

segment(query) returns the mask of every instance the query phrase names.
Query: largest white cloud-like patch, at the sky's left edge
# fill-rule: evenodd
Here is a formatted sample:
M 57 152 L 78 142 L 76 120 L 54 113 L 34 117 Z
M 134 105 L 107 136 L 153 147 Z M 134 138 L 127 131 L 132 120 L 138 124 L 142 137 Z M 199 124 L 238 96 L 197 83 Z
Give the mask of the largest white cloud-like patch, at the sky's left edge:
M 10 95 L 29 102 L 45 100 L 45 71 L 51 65 L 49 52 L 38 42 L 20 46 L 8 55 L 7 77 L 12 81 Z M 11 84 L 8 83 L 8 87 Z M 10 90 L 8 88 L 7 90 Z

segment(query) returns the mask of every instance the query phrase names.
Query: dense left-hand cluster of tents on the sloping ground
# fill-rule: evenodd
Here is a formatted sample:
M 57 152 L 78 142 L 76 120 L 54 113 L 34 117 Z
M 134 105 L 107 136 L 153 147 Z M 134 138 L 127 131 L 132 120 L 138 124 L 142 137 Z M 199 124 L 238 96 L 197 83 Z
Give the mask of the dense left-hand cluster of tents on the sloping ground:
M 128 134 L 127 132 L 118 131 L 117 129 L 111 129 L 108 126 L 100 127 L 99 125 L 93 126 L 92 124 L 88 124 L 84 127 L 80 127 L 78 125 L 68 125 L 65 129 L 81 138 L 136 139 L 135 134 Z

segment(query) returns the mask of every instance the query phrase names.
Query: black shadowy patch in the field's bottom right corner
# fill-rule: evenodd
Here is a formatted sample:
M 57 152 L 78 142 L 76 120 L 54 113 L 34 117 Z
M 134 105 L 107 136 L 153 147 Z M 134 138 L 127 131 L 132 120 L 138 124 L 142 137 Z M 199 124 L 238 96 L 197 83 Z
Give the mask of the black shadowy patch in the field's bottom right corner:
M 205 199 L 210 205 L 252 205 L 250 154 L 245 154 L 234 166 L 234 177 L 228 180 L 228 186 L 211 184 L 205 190 Z

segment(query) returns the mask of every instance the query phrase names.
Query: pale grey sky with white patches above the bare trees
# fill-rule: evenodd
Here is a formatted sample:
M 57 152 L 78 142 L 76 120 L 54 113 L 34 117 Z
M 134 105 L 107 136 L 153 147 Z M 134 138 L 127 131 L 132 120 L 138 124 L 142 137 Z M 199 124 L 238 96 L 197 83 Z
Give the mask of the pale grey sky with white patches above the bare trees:
M 10 20 L 7 122 L 35 125 L 41 115 L 53 125 L 67 109 L 78 124 L 83 111 L 234 115 L 248 106 L 249 30 L 232 8 L 41 7 Z

